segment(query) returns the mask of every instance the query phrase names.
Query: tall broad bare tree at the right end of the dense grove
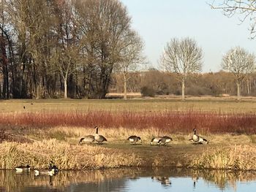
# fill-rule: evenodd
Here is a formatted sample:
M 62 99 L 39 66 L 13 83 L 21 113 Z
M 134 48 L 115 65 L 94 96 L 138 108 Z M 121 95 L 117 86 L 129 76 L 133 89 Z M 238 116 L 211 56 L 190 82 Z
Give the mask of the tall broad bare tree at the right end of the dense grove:
M 89 61 L 86 78 L 93 82 L 90 87 L 94 95 L 104 98 L 113 69 L 121 60 L 121 50 L 126 46 L 130 18 L 118 0 L 77 0 L 77 11 L 87 42 L 83 47 Z

